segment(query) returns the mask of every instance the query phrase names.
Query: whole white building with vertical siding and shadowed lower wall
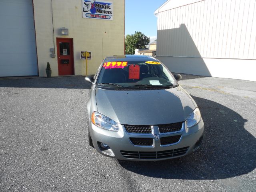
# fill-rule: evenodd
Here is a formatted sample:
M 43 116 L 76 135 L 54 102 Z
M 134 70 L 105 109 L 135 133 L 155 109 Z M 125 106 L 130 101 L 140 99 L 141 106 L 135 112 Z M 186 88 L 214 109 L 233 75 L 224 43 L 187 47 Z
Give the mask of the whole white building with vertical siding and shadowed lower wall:
M 256 81 L 255 0 L 168 0 L 154 14 L 172 72 Z

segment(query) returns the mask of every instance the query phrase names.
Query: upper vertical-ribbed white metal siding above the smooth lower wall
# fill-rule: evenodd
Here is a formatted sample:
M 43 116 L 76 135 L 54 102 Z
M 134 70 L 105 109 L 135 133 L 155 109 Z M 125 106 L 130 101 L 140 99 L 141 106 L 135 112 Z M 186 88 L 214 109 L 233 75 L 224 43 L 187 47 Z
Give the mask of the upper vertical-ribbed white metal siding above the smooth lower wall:
M 158 13 L 157 56 L 256 59 L 256 0 L 203 0 Z

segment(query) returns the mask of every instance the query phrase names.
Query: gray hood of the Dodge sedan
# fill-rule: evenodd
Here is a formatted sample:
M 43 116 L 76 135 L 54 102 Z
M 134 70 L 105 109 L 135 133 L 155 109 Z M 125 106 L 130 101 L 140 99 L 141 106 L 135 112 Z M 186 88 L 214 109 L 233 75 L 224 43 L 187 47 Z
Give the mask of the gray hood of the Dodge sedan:
M 185 121 L 196 103 L 180 86 L 162 90 L 96 88 L 98 112 L 120 124 L 156 125 Z

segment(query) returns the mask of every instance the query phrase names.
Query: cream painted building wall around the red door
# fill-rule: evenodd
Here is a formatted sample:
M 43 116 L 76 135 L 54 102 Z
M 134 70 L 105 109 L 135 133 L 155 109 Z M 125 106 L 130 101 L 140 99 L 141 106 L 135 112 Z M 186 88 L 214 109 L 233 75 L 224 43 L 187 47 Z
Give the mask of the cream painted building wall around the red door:
M 50 48 L 54 46 L 57 55 L 57 37 L 73 38 L 75 75 L 84 75 L 86 72 L 85 61 L 80 60 L 81 51 L 92 52 L 88 74 L 94 74 L 106 56 L 124 54 L 124 0 L 111 0 L 112 21 L 82 18 L 82 0 L 33 2 L 39 76 L 46 76 L 47 62 L 51 64 L 52 76 L 58 76 L 57 57 L 50 57 Z M 60 35 L 60 28 L 63 27 L 68 28 L 68 36 Z

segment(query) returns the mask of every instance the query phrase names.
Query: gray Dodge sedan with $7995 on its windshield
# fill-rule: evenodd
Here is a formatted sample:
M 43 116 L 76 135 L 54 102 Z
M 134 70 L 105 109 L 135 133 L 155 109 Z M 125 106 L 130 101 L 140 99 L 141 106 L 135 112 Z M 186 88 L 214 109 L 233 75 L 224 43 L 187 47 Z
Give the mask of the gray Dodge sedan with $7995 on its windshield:
M 196 151 L 204 133 L 200 110 L 156 58 L 106 57 L 88 100 L 88 139 L 100 154 L 120 160 L 166 160 Z

